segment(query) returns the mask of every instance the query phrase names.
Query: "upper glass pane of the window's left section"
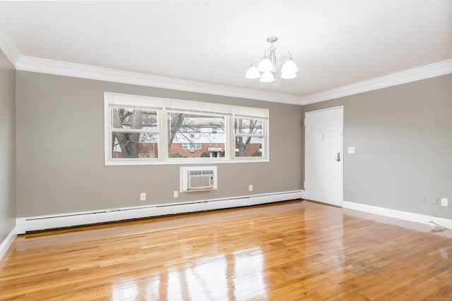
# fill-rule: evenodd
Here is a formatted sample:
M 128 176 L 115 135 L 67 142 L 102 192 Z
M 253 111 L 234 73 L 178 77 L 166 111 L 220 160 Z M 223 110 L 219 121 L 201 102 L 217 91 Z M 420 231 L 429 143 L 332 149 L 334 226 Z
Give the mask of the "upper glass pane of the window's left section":
M 157 111 L 113 108 L 113 128 L 157 129 Z

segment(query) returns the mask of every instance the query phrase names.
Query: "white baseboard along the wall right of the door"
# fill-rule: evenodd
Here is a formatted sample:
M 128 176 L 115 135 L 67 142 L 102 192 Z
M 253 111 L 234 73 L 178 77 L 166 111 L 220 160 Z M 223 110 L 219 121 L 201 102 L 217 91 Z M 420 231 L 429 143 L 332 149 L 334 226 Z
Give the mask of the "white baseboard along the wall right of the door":
M 395 209 L 388 209 L 383 207 L 376 207 L 366 204 L 359 204 L 354 202 L 342 202 L 342 207 L 347 209 L 353 209 L 357 211 L 363 211 L 373 214 L 379 214 L 381 216 L 393 217 L 395 219 L 403 219 L 404 221 L 414 221 L 415 223 L 424 223 L 428 224 L 429 221 L 432 221 L 432 217 L 424 214 L 417 214 L 407 211 L 400 211 Z M 435 223 L 439 223 L 441 226 L 445 228 L 452 229 L 452 220 L 451 219 L 443 219 L 441 217 L 434 217 L 433 221 Z

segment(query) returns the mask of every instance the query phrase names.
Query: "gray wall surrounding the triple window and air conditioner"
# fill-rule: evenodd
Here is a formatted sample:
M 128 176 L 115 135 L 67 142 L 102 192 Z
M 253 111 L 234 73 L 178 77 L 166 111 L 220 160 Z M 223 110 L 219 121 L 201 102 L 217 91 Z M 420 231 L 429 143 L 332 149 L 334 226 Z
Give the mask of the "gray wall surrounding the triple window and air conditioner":
M 104 166 L 104 92 L 270 109 L 270 162 L 218 164 L 210 198 L 302 189 L 302 106 L 17 71 L 17 216 L 186 202 L 179 166 Z M 248 185 L 254 191 L 248 191 Z M 139 193 L 147 192 L 147 201 Z

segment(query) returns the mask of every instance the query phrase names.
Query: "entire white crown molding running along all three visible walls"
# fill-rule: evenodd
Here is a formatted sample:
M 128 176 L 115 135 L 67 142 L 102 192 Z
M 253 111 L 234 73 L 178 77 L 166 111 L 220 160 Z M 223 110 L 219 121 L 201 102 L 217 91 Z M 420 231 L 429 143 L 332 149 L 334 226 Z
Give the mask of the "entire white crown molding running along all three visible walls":
M 3 23 L 0 23 L 0 49 L 4 51 L 8 60 L 11 61 L 17 70 L 298 105 L 324 102 L 330 99 L 452 73 L 452 59 L 450 59 L 302 97 L 22 56 Z

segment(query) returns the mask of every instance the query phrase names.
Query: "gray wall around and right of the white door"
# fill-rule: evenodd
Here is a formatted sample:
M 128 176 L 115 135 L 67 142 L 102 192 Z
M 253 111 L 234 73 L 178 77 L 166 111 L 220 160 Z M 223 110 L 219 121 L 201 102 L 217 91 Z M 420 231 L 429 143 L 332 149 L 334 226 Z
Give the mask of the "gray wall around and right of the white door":
M 344 106 L 344 200 L 452 219 L 452 75 L 304 106 Z M 426 197 L 426 202 L 421 199 Z M 449 207 L 433 204 L 447 197 Z

